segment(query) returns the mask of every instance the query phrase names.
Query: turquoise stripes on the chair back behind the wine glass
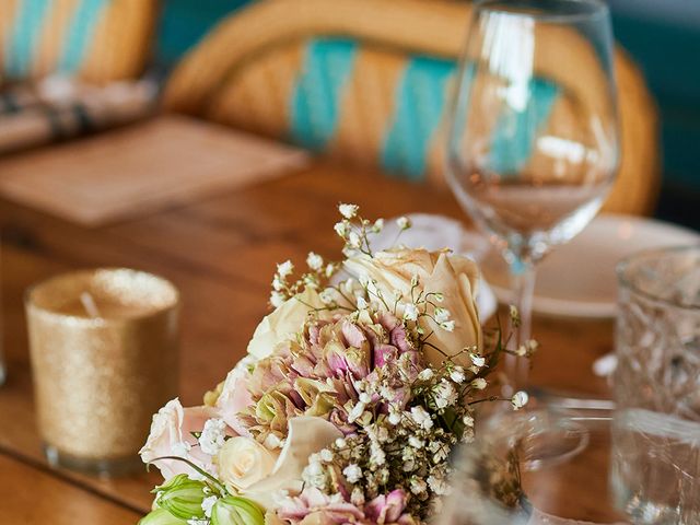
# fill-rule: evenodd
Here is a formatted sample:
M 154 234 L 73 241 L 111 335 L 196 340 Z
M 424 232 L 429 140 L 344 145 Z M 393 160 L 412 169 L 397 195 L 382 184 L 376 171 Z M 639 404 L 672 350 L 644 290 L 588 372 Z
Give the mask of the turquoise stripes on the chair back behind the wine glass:
M 343 127 L 343 118 L 357 118 L 359 95 L 349 85 L 355 83 L 355 66 L 360 46 L 347 39 L 314 38 L 306 43 L 302 66 L 289 97 L 290 140 L 315 152 L 334 145 L 334 138 Z M 388 119 L 380 124 L 381 143 L 366 151 L 376 151 L 375 163 L 388 173 L 411 180 L 427 178 L 429 160 L 443 121 L 448 91 L 454 84 L 456 63 L 440 58 L 412 56 L 402 58 L 401 72 L 393 89 Z M 366 74 L 363 73 L 363 74 Z M 493 168 L 517 171 L 527 163 L 535 133 L 526 124 L 540 126 L 548 120 L 557 100 L 557 86 L 535 80 L 530 86 L 532 102 L 521 114 L 503 117 L 494 137 Z M 346 106 L 352 106 L 348 109 Z M 523 125 L 521 125 L 523 124 Z M 347 126 L 345 126 L 347 128 Z M 359 132 L 363 132 L 362 129 Z M 364 130 L 366 133 L 373 131 Z M 515 133 L 515 141 L 513 139 Z

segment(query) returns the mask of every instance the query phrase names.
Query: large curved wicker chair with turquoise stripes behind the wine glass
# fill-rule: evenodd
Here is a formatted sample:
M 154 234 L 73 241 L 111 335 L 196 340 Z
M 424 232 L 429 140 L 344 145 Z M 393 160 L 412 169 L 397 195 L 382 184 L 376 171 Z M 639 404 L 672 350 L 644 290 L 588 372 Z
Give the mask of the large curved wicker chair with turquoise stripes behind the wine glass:
M 452 0 L 261 0 L 183 60 L 165 105 L 441 184 L 445 103 L 469 15 Z M 658 185 L 656 112 L 621 50 L 616 68 L 622 160 L 605 209 L 648 213 Z M 575 65 L 538 74 L 586 85 Z

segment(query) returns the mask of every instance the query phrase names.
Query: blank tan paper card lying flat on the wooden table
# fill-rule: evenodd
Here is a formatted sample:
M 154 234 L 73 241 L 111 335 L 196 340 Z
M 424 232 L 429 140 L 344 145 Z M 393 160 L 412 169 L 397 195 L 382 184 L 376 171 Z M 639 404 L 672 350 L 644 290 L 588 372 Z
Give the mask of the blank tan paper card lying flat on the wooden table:
M 97 226 L 306 165 L 295 148 L 182 116 L 0 161 L 0 194 Z

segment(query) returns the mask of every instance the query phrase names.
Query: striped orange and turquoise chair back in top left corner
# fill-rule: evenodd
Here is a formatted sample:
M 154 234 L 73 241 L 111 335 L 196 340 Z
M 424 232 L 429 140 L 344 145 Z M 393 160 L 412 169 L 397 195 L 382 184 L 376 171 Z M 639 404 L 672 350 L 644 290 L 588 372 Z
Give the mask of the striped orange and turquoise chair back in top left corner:
M 0 0 L 0 79 L 138 74 L 156 0 Z

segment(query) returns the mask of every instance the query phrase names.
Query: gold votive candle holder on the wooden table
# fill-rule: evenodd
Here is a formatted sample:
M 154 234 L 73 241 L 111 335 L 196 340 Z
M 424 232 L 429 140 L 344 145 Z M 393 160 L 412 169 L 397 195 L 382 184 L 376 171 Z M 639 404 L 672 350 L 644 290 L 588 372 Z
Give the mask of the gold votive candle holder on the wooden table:
M 83 270 L 33 287 L 25 307 L 49 463 L 137 468 L 153 413 L 177 395 L 177 289 L 143 271 Z

